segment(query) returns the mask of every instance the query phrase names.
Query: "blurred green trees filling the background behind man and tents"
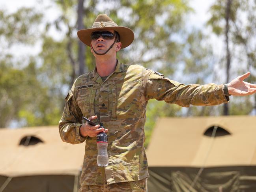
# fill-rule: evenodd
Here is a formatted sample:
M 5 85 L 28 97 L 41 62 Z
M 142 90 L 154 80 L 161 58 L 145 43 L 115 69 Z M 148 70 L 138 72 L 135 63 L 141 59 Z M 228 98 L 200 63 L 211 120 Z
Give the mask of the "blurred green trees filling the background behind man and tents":
M 187 18 L 193 14 L 189 2 L 52 0 L 60 12 L 52 22 L 45 22 L 49 15 L 43 9 L 0 10 L 0 127 L 58 124 L 73 81 L 95 66 L 90 48 L 78 41 L 77 30 L 90 28 L 101 13 L 135 32 L 133 44 L 118 52 L 123 63 L 143 65 L 185 84 L 222 84 L 249 70 L 249 82 L 255 83 L 256 3 L 215 0 L 205 26 L 211 30 L 202 32 L 189 26 Z M 54 38 L 52 29 L 61 38 Z M 220 60 L 210 35 L 223 41 L 226 52 Z M 13 54 L 19 52 L 17 46 L 26 48 L 38 41 L 39 54 Z M 223 105 L 181 108 L 149 101 L 146 136 L 150 138 L 159 116 L 254 114 L 255 101 L 256 96 L 232 98 L 225 110 Z

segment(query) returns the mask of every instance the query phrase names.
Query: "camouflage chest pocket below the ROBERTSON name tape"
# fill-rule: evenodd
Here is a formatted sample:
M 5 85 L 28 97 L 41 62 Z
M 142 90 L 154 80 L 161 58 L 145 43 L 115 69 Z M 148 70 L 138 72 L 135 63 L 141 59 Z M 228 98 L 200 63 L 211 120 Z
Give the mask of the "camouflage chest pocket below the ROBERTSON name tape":
M 97 88 L 77 90 L 77 104 L 82 111 L 83 116 L 94 116 L 94 100 Z

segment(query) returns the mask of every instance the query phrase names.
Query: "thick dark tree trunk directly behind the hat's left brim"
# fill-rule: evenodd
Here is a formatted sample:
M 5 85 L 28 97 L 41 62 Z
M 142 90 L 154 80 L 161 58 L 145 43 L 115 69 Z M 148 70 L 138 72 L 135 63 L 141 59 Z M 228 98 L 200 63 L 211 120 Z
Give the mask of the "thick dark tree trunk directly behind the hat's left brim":
M 84 29 L 83 23 L 83 15 L 84 15 L 84 0 L 78 0 L 78 8 L 77 8 L 77 23 L 78 23 L 78 30 Z M 78 41 L 78 62 L 79 62 L 79 75 L 85 73 L 85 45 L 82 41 Z

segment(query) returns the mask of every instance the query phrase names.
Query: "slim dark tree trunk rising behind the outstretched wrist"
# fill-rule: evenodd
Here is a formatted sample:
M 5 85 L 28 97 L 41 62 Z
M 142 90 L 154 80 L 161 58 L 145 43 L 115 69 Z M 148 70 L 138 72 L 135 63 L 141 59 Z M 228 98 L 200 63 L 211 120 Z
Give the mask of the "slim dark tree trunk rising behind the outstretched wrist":
M 227 4 L 226 4 L 226 14 L 225 14 L 225 20 L 226 20 L 226 30 L 225 30 L 225 37 L 226 37 L 226 83 L 229 82 L 229 71 L 230 71 L 230 49 L 229 49 L 229 19 L 230 19 L 230 8 L 231 8 L 231 3 L 232 0 L 227 0 Z M 228 104 L 225 103 L 224 104 L 224 110 L 223 110 L 223 115 L 227 116 L 229 115 L 229 109 L 228 109 Z

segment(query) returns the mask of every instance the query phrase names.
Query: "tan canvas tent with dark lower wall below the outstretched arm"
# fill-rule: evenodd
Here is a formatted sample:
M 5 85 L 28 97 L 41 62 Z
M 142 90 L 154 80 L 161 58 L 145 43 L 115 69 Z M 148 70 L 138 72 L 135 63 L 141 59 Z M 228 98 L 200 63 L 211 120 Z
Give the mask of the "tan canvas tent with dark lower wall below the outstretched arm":
M 149 192 L 255 192 L 256 117 L 161 118 L 147 156 Z

